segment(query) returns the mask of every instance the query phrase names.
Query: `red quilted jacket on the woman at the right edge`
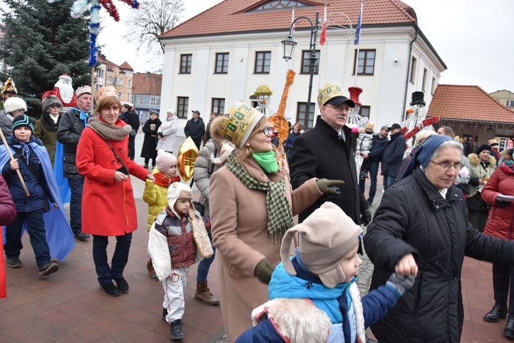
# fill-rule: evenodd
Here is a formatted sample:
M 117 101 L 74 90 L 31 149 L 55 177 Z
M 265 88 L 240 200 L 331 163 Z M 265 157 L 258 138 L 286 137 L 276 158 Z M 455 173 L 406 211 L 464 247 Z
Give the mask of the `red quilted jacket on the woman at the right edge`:
M 482 189 L 482 199 L 492 205 L 485 225 L 485 235 L 510 241 L 514 239 L 514 203 L 502 208 L 496 206 L 496 197 L 499 193 L 504 196 L 514 196 L 514 171 L 509 171 L 510 169 L 504 171 L 504 167 L 496 168 Z

